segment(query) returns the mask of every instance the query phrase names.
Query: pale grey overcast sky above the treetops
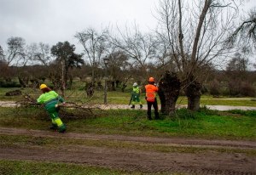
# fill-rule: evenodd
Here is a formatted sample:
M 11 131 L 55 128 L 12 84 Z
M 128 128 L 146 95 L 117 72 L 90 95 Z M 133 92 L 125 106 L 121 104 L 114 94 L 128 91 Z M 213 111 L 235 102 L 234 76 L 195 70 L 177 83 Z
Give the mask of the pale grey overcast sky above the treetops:
M 185 0 L 186 1 L 186 0 Z M 191 1 L 191 0 L 187 0 Z M 227 0 L 231 1 L 231 0 Z M 159 0 L 0 0 L 0 45 L 7 49 L 9 37 L 22 37 L 32 42 L 48 43 L 68 41 L 77 31 L 93 27 L 97 31 L 108 25 L 125 27 L 136 21 L 141 31 L 154 29 L 155 5 Z M 255 6 L 255 0 L 247 7 Z M 80 52 L 82 49 L 80 50 Z

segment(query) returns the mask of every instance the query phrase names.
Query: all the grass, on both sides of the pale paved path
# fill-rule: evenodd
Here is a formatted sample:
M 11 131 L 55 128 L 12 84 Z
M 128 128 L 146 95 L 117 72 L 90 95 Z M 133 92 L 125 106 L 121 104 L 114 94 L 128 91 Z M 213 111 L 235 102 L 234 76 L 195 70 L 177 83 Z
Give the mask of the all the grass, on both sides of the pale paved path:
M 0 100 L 19 101 L 24 100 L 23 96 L 5 96 L 6 92 L 17 88 L 0 88 Z M 41 92 L 37 89 L 23 89 L 23 93 L 29 93 L 34 99 L 37 99 Z M 61 92 L 58 92 L 61 93 Z M 125 93 L 120 91 L 108 92 L 108 104 L 128 104 L 131 95 L 131 88 L 126 89 Z M 82 90 L 67 91 L 67 101 L 76 103 L 102 104 L 104 92 L 96 91 L 92 98 L 88 98 Z M 144 97 L 144 94 L 142 95 Z M 143 104 L 145 99 L 141 98 Z M 180 97 L 177 104 L 187 104 L 185 97 Z M 201 104 L 208 105 L 241 105 L 256 106 L 255 101 L 249 99 L 214 99 L 211 96 L 203 95 Z M 67 126 L 68 132 L 72 133 L 96 133 L 96 134 L 121 134 L 133 136 L 148 137 L 183 137 L 183 138 L 211 138 L 211 139 L 229 139 L 229 140 L 249 140 L 256 139 L 256 110 L 229 110 L 218 111 L 208 110 L 202 107 L 197 112 L 191 112 L 186 109 L 176 111 L 175 116 L 163 116 L 160 114 L 160 120 L 148 121 L 145 110 L 93 110 L 93 114 L 88 116 L 79 116 L 83 110 L 65 109 L 65 112 L 73 114 L 77 118 L 68 118 L 61 116 L 62 121 Z M 153 115 L 154 118 L 154 115 Z M 48 130 L 50 126 L 48 114 L 42 106 L 26 108 L 5 108 L 0 107 L 0 127 L 16 127 L 24 129 Z M 0 134 L 0 143 L 2 145 L 17 144 L 28 145 L 38 144 L 47 148 L 55 148 L 63 145 L 81 144 L 79 139 L 75 140 L 56 140 L 53 138 L 33 138 L 24 135 L 5 135 Z M 34 141 L 32 141 L 34 140 Z M 201 152 L 210 154 L 214 152 L 235 152 L 237 154 L 247 154 L 256 156 L 255 150 L 227 150 L 214 149 L 205 150 L 192 147 L 173 147 L 173 146 L 152 146 L 140 144 L 127 144 L 115 142 L 99 142 L 92 139 L 86 140 L 86 146 L 105 146 L 109 148 L 123 148 L 126 150 L 154 150 L 161 152 L 180 152 L 194 153 Z M 122 170 L 91 167 L 71 163 L 58 162 L 40 162 L 40 161 L 9 161 L 0 160 L 0 174 L 143 174 L 142 172 L 125 172 Z M 154 173 L 151 173 L 154 174 Z M 157 173 L 165 174 L 165 173 Z M 173 173 L 179 174 L 179 173 Z

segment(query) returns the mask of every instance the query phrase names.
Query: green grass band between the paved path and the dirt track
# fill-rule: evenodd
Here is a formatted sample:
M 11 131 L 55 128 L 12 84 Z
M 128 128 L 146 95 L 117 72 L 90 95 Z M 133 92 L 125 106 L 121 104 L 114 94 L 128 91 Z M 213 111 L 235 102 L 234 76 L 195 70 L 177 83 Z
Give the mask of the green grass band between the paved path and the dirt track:
M 67 110 L 75 116 L 82 110 Z M 221 112 L 201 108 L 198 112 L 177 110 L 176 116 L 148 121 L 146 110 L 94 110 L 96 116 L 61 118 L 70 132 L 127 134 L 156 137 L 255 139 L 256 110 Z M 0 127 L 45 130 L 48 114 L 40 107 L 0 108 Z

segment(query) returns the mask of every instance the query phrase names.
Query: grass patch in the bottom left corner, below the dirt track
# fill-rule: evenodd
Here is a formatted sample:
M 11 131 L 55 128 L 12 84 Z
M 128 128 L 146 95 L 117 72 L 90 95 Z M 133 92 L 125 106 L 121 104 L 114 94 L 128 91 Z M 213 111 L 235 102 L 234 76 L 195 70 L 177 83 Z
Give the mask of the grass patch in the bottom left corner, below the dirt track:
M 0 174 L 4 175 L 119 175 L 119 174 L 141 174 L 139 172 L 125 172 L 117 169 L 78 165 L 72 163 L 54 163 L 40 161 L 0 161 Z

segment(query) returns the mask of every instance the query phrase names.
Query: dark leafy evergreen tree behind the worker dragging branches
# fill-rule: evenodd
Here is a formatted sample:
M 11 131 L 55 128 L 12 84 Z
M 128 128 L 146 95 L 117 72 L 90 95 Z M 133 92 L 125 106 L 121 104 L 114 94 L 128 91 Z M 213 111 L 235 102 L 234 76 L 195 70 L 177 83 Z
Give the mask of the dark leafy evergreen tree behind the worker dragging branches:
M 62 96 L 65 97 L 67 77 L 69 69 L 84 65 L 83 54 L 75 54 L 75 46 L 69 42 L 58 42 L 51 48 L 51 54 L 56 58 L 56 63 L 61 66 L 62 73 Z

